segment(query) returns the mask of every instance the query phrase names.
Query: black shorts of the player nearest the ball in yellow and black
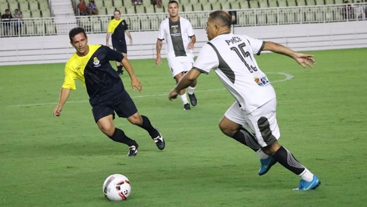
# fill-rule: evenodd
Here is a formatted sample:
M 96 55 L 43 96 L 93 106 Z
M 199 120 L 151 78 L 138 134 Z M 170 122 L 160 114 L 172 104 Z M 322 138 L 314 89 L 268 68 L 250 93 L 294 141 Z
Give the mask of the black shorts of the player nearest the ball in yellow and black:
M 95 122 L 108 115 L 113 115 L 115 119 L 115 112 L 119 117 L 123 118 L 130 117 L 138 112 L 133 99 L 126 91 L 122 92 L 120 97 L 112 103 L 92 107 Z

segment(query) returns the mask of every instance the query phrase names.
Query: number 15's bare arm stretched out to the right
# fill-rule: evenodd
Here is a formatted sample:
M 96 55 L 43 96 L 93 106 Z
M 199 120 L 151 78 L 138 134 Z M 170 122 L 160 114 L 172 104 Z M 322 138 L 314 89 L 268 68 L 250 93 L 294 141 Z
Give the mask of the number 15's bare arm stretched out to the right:
M 306 66 L 313 68 L 313 66 L 315 65 L 314 55 L 298 53 L 286 46 L 282 46 L 277 43 L 265 42 L 263 50 L 268 50 L 275 53 L 287 55 L 296 60 L 296 62 L 303 68 L 306 68 Z

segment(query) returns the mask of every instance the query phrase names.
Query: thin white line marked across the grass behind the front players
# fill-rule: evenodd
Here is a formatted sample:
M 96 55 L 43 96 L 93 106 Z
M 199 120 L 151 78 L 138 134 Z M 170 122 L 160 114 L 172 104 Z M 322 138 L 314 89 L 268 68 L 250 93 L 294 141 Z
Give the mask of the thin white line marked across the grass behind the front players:
M 281 80 L 276 80 L 273 81 L 272 83 L 278 83 L 278 82 L 283 82 L 283 81 L 287 81 L 290 80 L 292 78 L 294 78 L 293 75 L 288 74 L 288 73 L 284 73 L 284 72 L 267 72 L 267 73 L 272 73 L 272 74 L 280 74 L 280 75 L 284 75 L 285 78 L 281 79 Z M 220 89 L 208 89 L 208 90 L 197 90 L 195 92 L 212 92 L 212 91 L 220 91 L 220 90 L 225 90 L 225 88 L 220 88 Z M 145 98 L 145 97 L 155 97 L 155 96 L 165 96 L 168 95 L 168 93 L 161 93 L 161 94 L 151 94 L 151 95 L 136 95 L 136 96 L 131 96 L 132 98 Z M 89 102 L 89 100 L 83 100 L 83 101 L 68 101 L 67 103 L 84 103 L 84 102 Z M 56 105 L 58 102 L 52 102 L 52 103 L 35 103 L 35 104 L 17 104 L 17 105 L 11 105 L 11 106 L 7 106 L 7 107 L 30 107 L 30 106 L 45 106 L 45 105 Z

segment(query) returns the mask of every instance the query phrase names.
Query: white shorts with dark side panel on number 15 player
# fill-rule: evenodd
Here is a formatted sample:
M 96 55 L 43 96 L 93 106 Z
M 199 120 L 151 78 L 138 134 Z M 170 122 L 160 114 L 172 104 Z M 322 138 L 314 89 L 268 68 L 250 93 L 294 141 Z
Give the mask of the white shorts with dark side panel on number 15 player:
M 261 147 L 274 143 L 280 137 L 279 127 L 276 122 L 276 98 L 246 114 L 241 110 L 236 101 L 224 114 L 229 120 L 242 125 L 255 134 Z

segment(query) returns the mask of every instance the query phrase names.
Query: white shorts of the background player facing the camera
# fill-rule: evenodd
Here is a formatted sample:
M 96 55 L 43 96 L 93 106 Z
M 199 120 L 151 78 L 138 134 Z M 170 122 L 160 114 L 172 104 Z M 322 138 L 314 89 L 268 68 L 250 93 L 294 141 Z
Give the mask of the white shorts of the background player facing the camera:
M 172 76 L 175 77 L 180 72 L 187 72 L 192 68 L 194 64 L 194 58 L 192 55 L 167 57 L 169 69 L 172 72 Z

